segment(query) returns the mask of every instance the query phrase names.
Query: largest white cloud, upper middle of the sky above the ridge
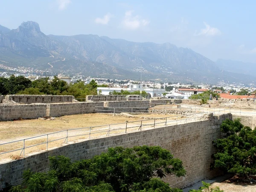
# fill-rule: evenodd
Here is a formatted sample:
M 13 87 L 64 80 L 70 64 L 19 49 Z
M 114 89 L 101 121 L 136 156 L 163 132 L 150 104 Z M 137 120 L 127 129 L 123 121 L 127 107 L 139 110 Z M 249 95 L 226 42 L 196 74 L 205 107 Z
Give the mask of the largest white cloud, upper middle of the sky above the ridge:
M 125 18 L 122 21 L 122 25 L 126 29 L 138 29 L 141 26 L 147 26 L 149 21 L 142 19 L 140 15 L 133 16 L 134 11 L 130 10 L 125 12 Z

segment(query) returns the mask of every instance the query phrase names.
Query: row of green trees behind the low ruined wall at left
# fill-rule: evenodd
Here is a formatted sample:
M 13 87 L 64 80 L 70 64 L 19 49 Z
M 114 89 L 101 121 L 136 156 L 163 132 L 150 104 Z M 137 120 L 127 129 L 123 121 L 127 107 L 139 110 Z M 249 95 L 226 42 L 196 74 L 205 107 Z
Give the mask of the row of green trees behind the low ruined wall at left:
M 78 81 L 67 84 L 66 81 L 55 76 L 30 81 L 23 76 L 11 76 L 9 79 L 0 77 L 0 95 L 26 94 L 26 95 L 73 95 L 75 98 L 85 98 L 87 95 L 97 95 L 97 83 L 92 80 L 89 84 Z

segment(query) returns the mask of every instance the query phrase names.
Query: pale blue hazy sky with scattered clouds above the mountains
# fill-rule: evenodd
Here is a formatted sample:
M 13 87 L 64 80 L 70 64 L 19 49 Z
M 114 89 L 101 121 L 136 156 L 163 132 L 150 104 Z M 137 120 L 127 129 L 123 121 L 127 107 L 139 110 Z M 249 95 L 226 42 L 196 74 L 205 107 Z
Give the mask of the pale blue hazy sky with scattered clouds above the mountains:
M 46 35 L 169 42 L 205 57 L 256 63 L 256 1 L 0 0 L 0 25 L 39 23 Z

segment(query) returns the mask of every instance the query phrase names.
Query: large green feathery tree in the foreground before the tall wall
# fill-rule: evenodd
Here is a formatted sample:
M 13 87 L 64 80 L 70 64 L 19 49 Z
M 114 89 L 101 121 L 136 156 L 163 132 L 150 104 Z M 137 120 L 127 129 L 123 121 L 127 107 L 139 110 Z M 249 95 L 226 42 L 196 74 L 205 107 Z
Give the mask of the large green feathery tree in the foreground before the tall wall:
M 23 186 L 12 192 L 181 192 L 156 177 L 186 174 L 182 161 L 159 146 L 109 148 L 106 153 L 74 163 L 49 157 L 47 173 L 23 173 Z

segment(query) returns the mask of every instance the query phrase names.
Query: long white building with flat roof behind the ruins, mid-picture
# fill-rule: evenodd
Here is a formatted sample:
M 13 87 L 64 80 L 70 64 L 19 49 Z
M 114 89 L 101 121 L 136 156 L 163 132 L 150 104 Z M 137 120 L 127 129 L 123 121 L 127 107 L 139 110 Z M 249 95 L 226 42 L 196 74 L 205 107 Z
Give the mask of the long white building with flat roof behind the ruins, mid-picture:
M 97 91 L 99 93 L 101 90 L 102 95 L 109 95 L 109 92 L 121 90 L 127 90 L 129 92 L 134 92 L 137 90 L 145 91 L 147 93 L 147 98 L 151 97 L 160 97 L 165 93 L 165 89 L 156 89 L 156 88 L 143 88 L 141 84 L 128 84 L 127 87 L 97 87 Z

